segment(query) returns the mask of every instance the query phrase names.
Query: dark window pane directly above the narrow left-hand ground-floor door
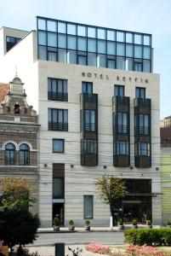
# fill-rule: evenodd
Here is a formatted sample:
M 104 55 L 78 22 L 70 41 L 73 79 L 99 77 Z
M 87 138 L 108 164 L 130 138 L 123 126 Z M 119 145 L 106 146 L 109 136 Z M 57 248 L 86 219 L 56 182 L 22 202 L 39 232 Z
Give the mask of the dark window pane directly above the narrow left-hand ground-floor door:
M 64 178 L 53 177 L 53 198 L 63 199 L 64 198 Z

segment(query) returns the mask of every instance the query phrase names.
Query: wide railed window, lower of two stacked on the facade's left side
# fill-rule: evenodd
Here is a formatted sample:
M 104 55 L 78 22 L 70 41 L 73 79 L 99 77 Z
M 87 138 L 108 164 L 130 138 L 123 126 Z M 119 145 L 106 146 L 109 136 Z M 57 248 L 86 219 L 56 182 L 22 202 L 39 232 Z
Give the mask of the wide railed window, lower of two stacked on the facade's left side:
M 68 110 L 48 108 L 48 130 L 68 131 Z

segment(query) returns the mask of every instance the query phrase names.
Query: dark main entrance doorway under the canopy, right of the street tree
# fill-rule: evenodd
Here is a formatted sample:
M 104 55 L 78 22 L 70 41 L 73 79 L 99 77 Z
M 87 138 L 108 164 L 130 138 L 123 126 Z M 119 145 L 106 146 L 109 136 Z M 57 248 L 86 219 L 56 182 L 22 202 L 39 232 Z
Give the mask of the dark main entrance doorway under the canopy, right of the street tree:
M 123 221 L 132 222 L 134 218 L 141 222 L 141 202 L 139 201 L 127 201 L 123 203 Z

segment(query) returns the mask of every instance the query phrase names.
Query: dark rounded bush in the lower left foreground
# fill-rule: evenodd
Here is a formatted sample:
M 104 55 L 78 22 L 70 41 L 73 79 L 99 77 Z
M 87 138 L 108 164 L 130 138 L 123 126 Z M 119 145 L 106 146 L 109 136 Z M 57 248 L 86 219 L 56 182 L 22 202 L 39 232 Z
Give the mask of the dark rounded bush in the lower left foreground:
M 26 245 L 36 240 L 40 220 L 25 207 L 4 208 L 0 212 L 0 240 L 13 248 L 15 245 Z

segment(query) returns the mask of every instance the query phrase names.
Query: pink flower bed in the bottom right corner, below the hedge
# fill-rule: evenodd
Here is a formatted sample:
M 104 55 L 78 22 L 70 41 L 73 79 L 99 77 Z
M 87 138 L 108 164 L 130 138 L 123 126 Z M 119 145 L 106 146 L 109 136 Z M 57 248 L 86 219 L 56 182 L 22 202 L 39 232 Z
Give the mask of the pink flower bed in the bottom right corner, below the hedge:
M 149 256 L 149 255 L 156 255 L 156 256 L 165 256 L 165 253 L 162 253 L 160 250 L 157 250 L 154 247 L 148 246 L 128 246 L 125 248 L 127 256 Z

